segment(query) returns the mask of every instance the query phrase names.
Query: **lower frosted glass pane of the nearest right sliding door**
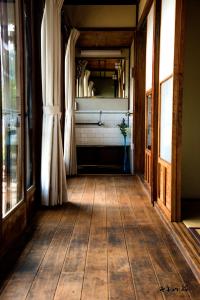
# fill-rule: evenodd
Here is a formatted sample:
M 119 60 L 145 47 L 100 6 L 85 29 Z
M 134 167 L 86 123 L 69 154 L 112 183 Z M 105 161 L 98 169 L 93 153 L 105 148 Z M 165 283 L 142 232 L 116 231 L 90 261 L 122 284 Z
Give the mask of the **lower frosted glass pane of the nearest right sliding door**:
M 171 163 L 173 78 L 161 84 L 160 157 Z

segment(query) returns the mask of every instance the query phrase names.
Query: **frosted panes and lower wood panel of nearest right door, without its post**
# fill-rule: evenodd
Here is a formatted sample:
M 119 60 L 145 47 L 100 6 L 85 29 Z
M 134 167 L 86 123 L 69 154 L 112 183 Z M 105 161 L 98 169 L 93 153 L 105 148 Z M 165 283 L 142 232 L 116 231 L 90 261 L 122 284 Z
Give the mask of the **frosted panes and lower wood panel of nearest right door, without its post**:
M 162 0 L 159 69 L 158 204 L 171 219 L 176 0 Z

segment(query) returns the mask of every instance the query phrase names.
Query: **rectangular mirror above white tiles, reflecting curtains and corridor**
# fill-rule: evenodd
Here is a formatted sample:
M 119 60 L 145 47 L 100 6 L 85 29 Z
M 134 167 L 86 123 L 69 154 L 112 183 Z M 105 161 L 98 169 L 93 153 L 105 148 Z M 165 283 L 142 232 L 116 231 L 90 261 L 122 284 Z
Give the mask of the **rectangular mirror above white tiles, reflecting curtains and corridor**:
M 76 98 L 128 98 L 126 58 L 76 58 Z

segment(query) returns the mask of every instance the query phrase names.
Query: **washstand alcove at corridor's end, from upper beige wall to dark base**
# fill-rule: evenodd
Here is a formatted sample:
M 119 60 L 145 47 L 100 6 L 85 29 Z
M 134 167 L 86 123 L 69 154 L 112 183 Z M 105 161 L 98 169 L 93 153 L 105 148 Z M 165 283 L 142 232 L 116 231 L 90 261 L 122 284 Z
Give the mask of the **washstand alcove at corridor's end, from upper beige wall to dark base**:
M 80 32 L 75 79 L 78 173 L 133 172 L 130 60 L 136 4 L 65 4 L 64 15 L 66 24 Z

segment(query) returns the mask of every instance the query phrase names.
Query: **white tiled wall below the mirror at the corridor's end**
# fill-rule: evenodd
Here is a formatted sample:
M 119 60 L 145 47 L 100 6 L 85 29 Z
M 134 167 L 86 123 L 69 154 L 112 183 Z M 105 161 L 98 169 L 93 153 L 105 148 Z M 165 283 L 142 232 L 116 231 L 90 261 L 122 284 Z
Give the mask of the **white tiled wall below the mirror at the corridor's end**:
M 79 110 L 76 111 L 76 144 L 77 145 L 123 145 L 124 138 L 118 124 L 124 118 L 128 124 L 128 99 L 76 99 Z M 88 125 L 98 123 L 103 126 Z M 82 124 L 77 124 L 82 123 Z M 132 127 L 132 124 L 130 124 Z M 127 137 L 130 144 L 130 132 Z

